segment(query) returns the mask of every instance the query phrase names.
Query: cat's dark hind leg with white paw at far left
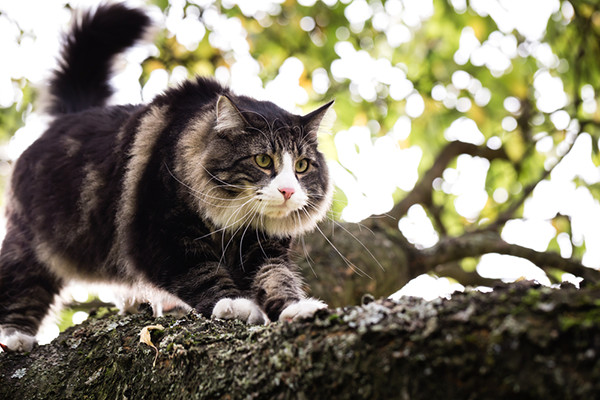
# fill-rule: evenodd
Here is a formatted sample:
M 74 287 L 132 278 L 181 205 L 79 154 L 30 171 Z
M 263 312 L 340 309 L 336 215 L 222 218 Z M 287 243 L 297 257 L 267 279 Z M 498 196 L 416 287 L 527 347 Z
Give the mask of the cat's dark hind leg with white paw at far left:
M 8 232 L 0 253 L 0 343 L 29 351 L 35 334 L 62 288 L 23 240 Z

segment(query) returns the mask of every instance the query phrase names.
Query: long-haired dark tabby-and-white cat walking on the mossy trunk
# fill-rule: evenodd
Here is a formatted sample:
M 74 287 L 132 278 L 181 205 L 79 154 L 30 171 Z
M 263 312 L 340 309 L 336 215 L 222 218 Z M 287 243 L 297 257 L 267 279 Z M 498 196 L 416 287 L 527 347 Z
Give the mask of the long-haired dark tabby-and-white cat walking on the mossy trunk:
M 54 117 L 16 161 L 0 252 L 0 342 L 30 350 L 73 280 L 162 295 L 250 324 L 310 316 L 290 259 L 332 183 L 317 132 L 331 106 L 291 114 L 197 77 L 149 104 L 106 105 L 114 57 L 151 27 L 123 4 L 83 13 L 49 81 Z

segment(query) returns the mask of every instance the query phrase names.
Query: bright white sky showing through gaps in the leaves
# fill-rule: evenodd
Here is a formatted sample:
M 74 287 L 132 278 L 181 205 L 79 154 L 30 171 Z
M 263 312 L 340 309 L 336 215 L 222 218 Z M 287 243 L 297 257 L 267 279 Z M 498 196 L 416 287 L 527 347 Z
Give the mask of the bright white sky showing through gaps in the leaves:
M 248 17 L 261 20 L 266 15 L 276 14 L 283 0 L 223 0 L 225 7 L 234 4 L 240 6 Z M 299 3 L 310 6 L 316 0 L 300 0 Z M 334 4 L 338 0 L 324 0 Z M 424 111 L 424 100 L 410 80 L 406 72 L 389 60 L 376 59 L 364 50 L 356 49 L 345 41 L 353 30 L 360 29 L 367 18 L 372 18 L 374 26 L 384 32 L 392 46 L 411 40 L 412 31 L 433 14 L 431 0 L 388 0 L 384 7 L 370 7 L 365 0 L 343 0 L 350 3 L 346 8 L 349 29 L 338 32 L 340 41 L 335 47 L 338 59 L 331 65 L 331 75 L 325 70 L 313 75 L 313 89 L 317 93 L 325 93 L 331 84 L 330 76 L 336 80 L 349 80 L 351 95 L 357 100 L 372 101 L 376 97 L 374 87 L 384 83 L 390 88 L 390 96 L 394 100 L 406 100 L 406 115 L 401 116 L 394 128 L 386 135 L 373 140 L 371 128 L 353 126 L 347 130 L 336 132 L 334 142 L 338 152 L 338 160 L 330 162 L 330 169 L 336 185 L 344 191 L 348 198 L 348 206 L 342 213 L 347 221 L 360 221 L 372 214 L 383 214 L 393 206 L 392 194 L 401 188 L 409 191 L 418 179 L 418 166 L 423 156 L 417 147 L 401 149 L 397 143 L 409 137 L 411 124 Z M 89 8 L 98 4 L 96 0 L 80 0 L 69 2 L 74 8 Z M 133 5 L 142 2 L 127 2 Z M 302 61 L 295 57 L 286 59 L 279 68 L 277 76 L 263 83 L 259 78 L 260 65 L 250 55 L 246 40 L 247 32 L 237 18 L 228 18 L 216 8 L 211 7 L 213 1 L 196 0 L 198 15 L 200 9 L 207 10 L 200 22 L 193 10 L 187 15 L 183 12 L 182 0 L 173 0 L 166 18 L 156 8 L 152 9 L 153 17 L 165 26 L 177 40 L 189 50 L 209 35 L 212 46 L 229 51 L 232 54 L 231 67 L 219 67 L 216 78 L 230 85 L 239 94 L 252 95 L 258 99 L 268 99 L 284 109 L 301 112 L 309 101 L 308 93 L 300 85 L 300 77 L 305 70 Z M 452 0 L 452 6 L 459 12 L 466 8 L 466 0 Z M 0 15 L 0 54 L 4 60 L 0 63 L 0 107 L 11 106 L 22 100 L 22 93 L 14 80 L 26 78 L 34 85 L 41 86 L 49 71 L 56 63 L 59 52 L 61 29 L 69 24 L 70 12 L 64 8 L 63 0 L 0 0 L 0 11 L 10 16 Z M 473 29 L 465 27 L 461 33 L 460 45 L 455 53 L 458 65 L 471 62 L 473 65 L 485 65 L 492 74 L 501 76 L 510 68 L 511 60 L 522 51 L 529 51 L 542 67 L 553 67 L 559 62 L 550 47 L 541 42 L 548 18 L 553 13 L 561 12 L 565 18 L 572 16 L 572 7 L 558 0 L 471 0 L 470 6 L 480 15 L 491 16 L 498 26 L 485 41 L 480 42 Z M 31 12 L 35 9 L 35 12 Z M 301 27 L 310 30 L 314 20 L 307 17 L 301 21 Z M 30 34 L 17 42 L 19 31 L 16 24 Z M 515 32 L 526 37 L 531 43 L 528 49 L 517 46 Z M 158 69 L 152 72 L 148 82 L 141 87 L 139 77 L 142 73 L 140 62 L 150 55 L 157 54 L 156 47 L 147 43 L 126 53 L 117 65 L 117 74 L 112 80 L 118 88 L 112 101 L 114 103 L 139 103 L 150 101 L 169 85 L 173 85 L 187 76 L 183 68 L 175 68 L 169 74 Z M 430 94 L 432 98 L 442 102 L 446 107 L 454 107 L 459 111 L 467 111 L 471 100 L 457 96 L 457 89 L 468 90 L 473 101 L 486 105 L 492 96 L 489 89 L 482 87 L 477 79 L 467 72 L 458 70 L 452 76 L 452 85 L 436 85 Z M 551 120 L 558 129 L 569 132 L 577 126 L 570 121 L 569 115 L 562 110 L 567 102 L 560 78 L 553 77 L 547 69 L 541 68 L 535 75 L 534 89 L 537 106 L 550 113 Z M 583 107 L 595 111 L 594 89 L 584 88 L 582 91 Z M 504 107 L 516 113 L 520 107 L 516 98 L 507 98 Z M 18 155 L 44 130 L 47 117 L 38 113 L 29 113 L 26 124 L 19 129 L 13 139 L 0 151 L 11 159 Z M 502 121 L 505 130 L 516 128 L 516 119 L 509 116 Z M 499 138 L 492 137 L 486 141 L 477 124 L 467 118 L 459 117 L 444 132 L 447 140 L 460 140 L 478 145 L 486 144 L 490 148 L 500 145 Z M 575 140 L 575 139 L 573 139 Z M 538 141 L 538 151 L 550 152 L 554 147 L 552 138 Z M 600 168 L 590 158 L 592 138 L 587 134 L 580 135 L 571 152 L 552 172 L 550 179 L 538 185 L 533 195 L 526 201 L 524 216 L 509 221 L 502 231 L 502 237 L 509 243 L 520 244 L 543 251 L 556 231 L 549 219 L 557 212 L 570 215 L 573 224 L 573 240 L 583 243 L 600 243 L 600 205 L 589 191 L 578 189 L 573 183 L 575 177 L 587 183 L 600 182 Z M 358 151 L 357 151 L 358 149 Z M 403 174 L 389 177 L 381 174 L 382 170 L 402 170 Z M 444 171 L 443 178 L 434 185 L 447 193 L 456 195 L 455 207 L 459 214 L 474 220 L 488 200 L 485 190 L 486 174 L 489 161 L 468 155 L 458 158 L 456 167 Z M 0 171 L 1 172 L 1 171 Z M 494 200 L 507 201 L 510 194 L 498 189 L 493 193 Z M 3 224 L 2 224 L 3 225 Z M 399 221 L 399 228 L 413 243 L 420 247 L 433 246 L 439 239 L 425 210 L 420 205 L 413 206 L 407 216 Z M 2 232 L 0 232 L 2 234 Z M 560 237 L 558 242 L 561 254 L 570 256 L 572 252 L 569 238 Z M 507 262 L 507 258 L 510 262 Z M 591 267 L 600 267 L 600 246 L 587 246 L 583 263 Z M 498 268 L 502 265 L 502 270 Z M 510 265 L 510 268 L 506 266 Z M 549 284 L 548 278 L 532 263 L 509 256 L 490 254 L 483 256 L 478 271 L 487 277 L 514 280 L 519 277 L 537 279 Z M 566 277 L 568 278 L 568 277 Z M 455 289 L 462 289 L 458 284 L 431 276 L 419 277 L 404 287 L 399 294 L 412 294 L 433 297 L 444 295 Z M 79 299 L 87 295 L 76 289 L 72 296 Z M 82 316 L 79 315 L 78 318 Z

